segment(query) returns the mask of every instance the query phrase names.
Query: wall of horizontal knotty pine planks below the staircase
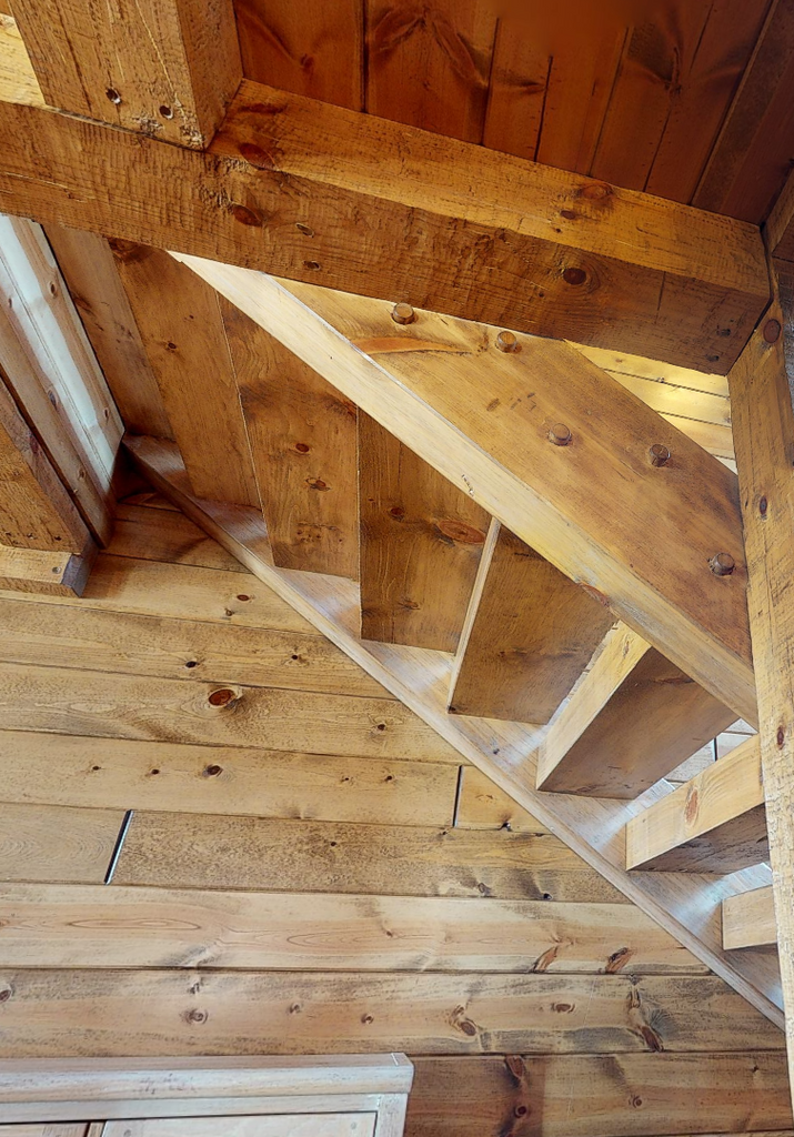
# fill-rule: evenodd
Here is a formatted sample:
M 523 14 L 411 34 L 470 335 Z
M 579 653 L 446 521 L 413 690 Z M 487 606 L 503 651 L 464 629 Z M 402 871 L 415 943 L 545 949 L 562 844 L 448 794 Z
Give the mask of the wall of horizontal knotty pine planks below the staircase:
M 791 1130 L 776 1028 L 155 496 L 82 600 L 0 595 L 0 1056 L 395 1048 L 410 1137 Z

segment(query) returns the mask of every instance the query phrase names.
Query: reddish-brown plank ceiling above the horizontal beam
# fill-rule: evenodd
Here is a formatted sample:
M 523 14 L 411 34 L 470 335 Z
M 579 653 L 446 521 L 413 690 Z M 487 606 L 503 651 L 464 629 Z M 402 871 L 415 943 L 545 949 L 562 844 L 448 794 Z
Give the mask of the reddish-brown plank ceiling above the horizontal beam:
M 756 224 L 794 158 L 785 0 L 235 10 L 249 78 Z

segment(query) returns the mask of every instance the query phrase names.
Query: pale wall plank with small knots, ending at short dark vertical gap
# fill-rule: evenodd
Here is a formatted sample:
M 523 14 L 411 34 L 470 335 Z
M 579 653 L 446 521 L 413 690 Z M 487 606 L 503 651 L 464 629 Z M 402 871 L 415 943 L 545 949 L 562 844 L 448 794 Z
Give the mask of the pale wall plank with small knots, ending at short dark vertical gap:
M 457 769 L 184 742 L 0 732 L 0 799 L 377 825 L 448 825 Z

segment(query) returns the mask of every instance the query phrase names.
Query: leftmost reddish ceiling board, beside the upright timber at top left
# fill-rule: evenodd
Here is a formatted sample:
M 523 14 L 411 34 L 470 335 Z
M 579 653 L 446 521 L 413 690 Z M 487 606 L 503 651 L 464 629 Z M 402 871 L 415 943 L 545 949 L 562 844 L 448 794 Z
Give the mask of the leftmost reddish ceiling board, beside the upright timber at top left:
M 248 78 L 296 94 L 364 107 L 364 0 L 235 0 Z

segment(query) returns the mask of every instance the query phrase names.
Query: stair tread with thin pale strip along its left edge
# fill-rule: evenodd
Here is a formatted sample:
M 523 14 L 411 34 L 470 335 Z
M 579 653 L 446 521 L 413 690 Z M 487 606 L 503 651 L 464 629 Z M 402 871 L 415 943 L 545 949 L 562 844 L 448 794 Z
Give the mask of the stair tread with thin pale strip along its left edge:
M 547 723 L 614 617 L 491 522 L 449 688 L 449 709 Z

